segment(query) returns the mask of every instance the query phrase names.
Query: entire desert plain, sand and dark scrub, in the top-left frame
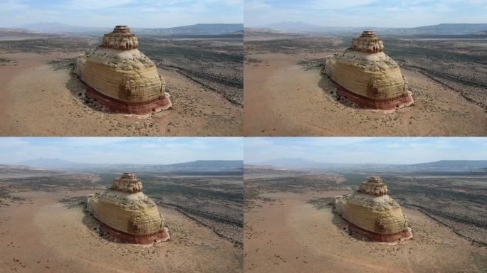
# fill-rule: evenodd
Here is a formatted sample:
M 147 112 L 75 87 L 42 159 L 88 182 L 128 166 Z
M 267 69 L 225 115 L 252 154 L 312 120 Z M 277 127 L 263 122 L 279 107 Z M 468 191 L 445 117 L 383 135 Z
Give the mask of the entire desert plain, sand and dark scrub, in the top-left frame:
M 241 36 L 140 37 L 167 82 L 172 110 L 112 113 L 88 100 L 70 71 L 97 36 L 0 36 L 3 136 L 239 136 Z M 145 45 L 142 45 L 145 43 Z

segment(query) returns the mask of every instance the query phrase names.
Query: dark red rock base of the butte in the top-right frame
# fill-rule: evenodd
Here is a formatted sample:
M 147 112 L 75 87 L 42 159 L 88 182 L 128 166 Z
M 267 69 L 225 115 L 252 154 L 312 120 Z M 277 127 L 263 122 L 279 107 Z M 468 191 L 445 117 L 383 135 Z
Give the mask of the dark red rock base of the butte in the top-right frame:
M 337 83 L 335 83 L 335 85 L 337 85 Z M 399 107 L 409 106 L 414 103 L 414 100 L 409 92 L 407 95 L 404 95 L 402 97 L 397 97 L 394 99 L 373 100 L 369 97 L 357 95 L 354 92 L 346 90 L 340 85 L 337 85 L 337 93 L 342 97 L 347 98 L 347 100 L 350 100 L 351 102 L 354 102 L 357 105 L 362 105 L 363 107 L 368 109 L 392 110 Z

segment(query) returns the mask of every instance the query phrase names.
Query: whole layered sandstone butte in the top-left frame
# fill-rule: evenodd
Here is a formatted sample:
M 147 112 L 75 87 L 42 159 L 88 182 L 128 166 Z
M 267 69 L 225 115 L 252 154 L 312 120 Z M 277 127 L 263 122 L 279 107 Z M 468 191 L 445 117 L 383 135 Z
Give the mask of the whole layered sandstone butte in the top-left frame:
M 115 26 L 103 44 L 78 58 L 74 73 L 87 95 L 115 112 L 149 114 L 172 107 L 156 65 L 137 47 L 127 26 Z

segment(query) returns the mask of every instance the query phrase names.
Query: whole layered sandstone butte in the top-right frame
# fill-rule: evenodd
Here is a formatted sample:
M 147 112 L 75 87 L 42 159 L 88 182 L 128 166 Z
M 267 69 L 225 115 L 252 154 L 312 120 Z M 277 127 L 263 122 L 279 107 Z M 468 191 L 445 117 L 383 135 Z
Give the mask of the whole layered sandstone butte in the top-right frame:
M 337 93 L 357 105 L 391 110 L 414 103 L 399 65 L 384 52 L 382 39 L 364 31 L 342 53 L 328 58 L 324 73 L 337 84 Z

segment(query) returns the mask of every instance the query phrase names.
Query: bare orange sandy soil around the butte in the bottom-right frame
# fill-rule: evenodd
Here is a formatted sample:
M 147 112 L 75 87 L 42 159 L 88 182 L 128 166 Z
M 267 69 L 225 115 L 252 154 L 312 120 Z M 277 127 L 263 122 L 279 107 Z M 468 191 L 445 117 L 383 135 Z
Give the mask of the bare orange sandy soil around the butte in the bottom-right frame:
M 404 208 L 414 239 L 365 242 L 342 232 L 330 208 L 307 203 L 345 192 L 266 193 L 246 211 L 246 272 L 485 272 L 487 250 L 474 247 L 417 210 Z

